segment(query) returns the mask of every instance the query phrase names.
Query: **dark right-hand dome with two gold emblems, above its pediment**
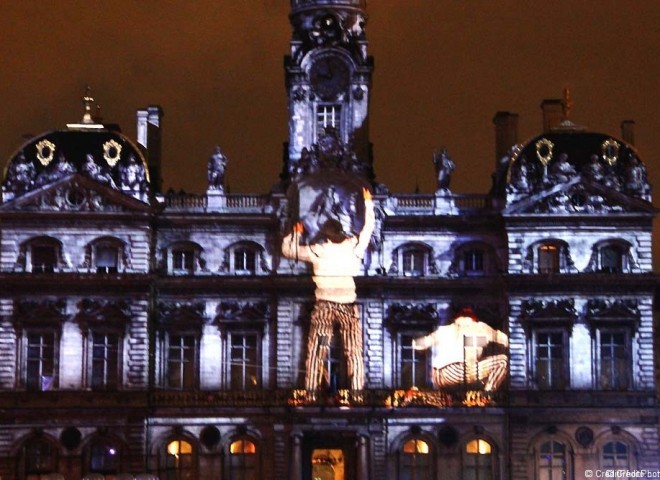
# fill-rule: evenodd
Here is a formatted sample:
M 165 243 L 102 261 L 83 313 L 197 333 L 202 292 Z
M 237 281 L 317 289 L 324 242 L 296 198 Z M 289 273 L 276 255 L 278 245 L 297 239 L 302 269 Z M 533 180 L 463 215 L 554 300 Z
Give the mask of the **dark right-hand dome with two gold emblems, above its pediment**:
M 510 194 L 534 194 L 581 177 L 650 200 L 646 167 L 632 145 L 569 121 L 514 147 L 505 161 Z

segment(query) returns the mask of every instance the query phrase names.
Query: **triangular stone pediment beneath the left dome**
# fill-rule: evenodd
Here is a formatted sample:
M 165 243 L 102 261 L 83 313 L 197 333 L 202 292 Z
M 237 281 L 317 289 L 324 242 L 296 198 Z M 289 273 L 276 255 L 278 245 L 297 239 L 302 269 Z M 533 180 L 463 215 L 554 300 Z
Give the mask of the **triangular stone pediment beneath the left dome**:
M 150 206 L 91 178 L 72 174 L 0 206 L 23 212 L 148 212 Z

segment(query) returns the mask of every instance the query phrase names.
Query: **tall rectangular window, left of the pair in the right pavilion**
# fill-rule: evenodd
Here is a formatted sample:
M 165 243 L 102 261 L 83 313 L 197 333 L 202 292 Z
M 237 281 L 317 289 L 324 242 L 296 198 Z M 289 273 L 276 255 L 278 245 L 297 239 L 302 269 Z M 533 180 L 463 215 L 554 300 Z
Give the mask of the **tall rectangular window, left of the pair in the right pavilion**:
M 567 375 L 563 332 L 536 333 L 536 383 L 541 389 L 566 388 Z

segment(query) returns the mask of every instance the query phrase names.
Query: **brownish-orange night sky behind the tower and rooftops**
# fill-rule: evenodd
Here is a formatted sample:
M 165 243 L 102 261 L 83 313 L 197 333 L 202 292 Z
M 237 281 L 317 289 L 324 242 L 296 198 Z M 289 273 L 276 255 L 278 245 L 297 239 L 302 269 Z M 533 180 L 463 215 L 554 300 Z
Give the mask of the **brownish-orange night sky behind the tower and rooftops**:
M 233 193 L 267 192 L 287 140 L 282 57 L 287 0 L 5 1 L 0 15 L 0 157 L 25 134 L 82 116 L 86 84 L 104 121 L 135 137 L 135 110 L 165 111 L 164 188 L 206 188 L 219 144 Z M 636 146 L 660 185 L 660 3 L 657 0 L 371 0 L 376 69 L 371 140 L 377 179 L 394 192 L 435 187 L 433 150 L 457 163 L 452 190 L 485 193 L 495 164 L 492 118 L 572 94 L 571 120 Z

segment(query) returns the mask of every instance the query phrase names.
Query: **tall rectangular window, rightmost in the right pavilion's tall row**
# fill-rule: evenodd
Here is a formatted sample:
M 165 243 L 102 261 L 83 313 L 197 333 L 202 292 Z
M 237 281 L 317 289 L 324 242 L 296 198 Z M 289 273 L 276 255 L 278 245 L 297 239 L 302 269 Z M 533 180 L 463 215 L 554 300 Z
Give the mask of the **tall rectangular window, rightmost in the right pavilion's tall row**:
M 629 385 L 628 340 L 622 331 L 600 331 L 600 388 L 625 390 Z

